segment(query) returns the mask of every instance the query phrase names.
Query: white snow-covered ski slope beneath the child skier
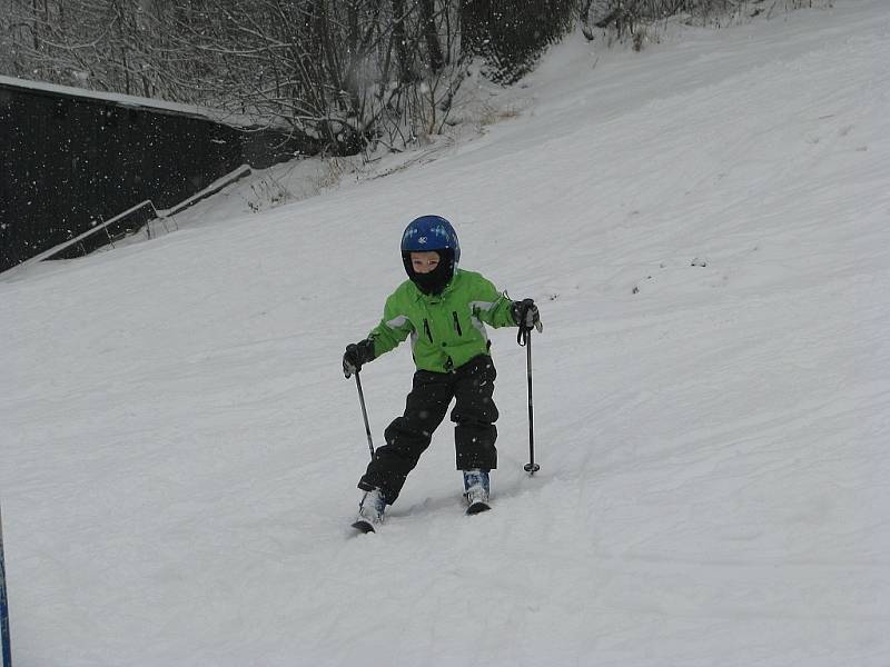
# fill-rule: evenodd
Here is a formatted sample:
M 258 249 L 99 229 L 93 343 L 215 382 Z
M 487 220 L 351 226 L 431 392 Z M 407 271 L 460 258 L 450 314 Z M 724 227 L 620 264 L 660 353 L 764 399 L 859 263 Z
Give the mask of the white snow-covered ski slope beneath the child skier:
M 890 665 L 890 7 L 833 4 L 570 39 L 432 163 L 0 280 L 17 667 Z M 354 537 L 340 355 L 427 212 L 541 302 L 542 469 L 495 331 L 495 510 L 446 422 Z

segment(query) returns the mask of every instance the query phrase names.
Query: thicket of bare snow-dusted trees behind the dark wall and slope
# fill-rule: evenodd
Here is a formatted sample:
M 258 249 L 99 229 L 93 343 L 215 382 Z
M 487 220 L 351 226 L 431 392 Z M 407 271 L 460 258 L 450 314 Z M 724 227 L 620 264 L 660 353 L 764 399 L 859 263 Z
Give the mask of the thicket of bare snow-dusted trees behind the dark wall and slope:
M 439 133 L 471 59 L 510 83 L 578 18 L 624 39 L 760 1 L 0 0 L 0 68 L 204 104 L 344 155 Z

